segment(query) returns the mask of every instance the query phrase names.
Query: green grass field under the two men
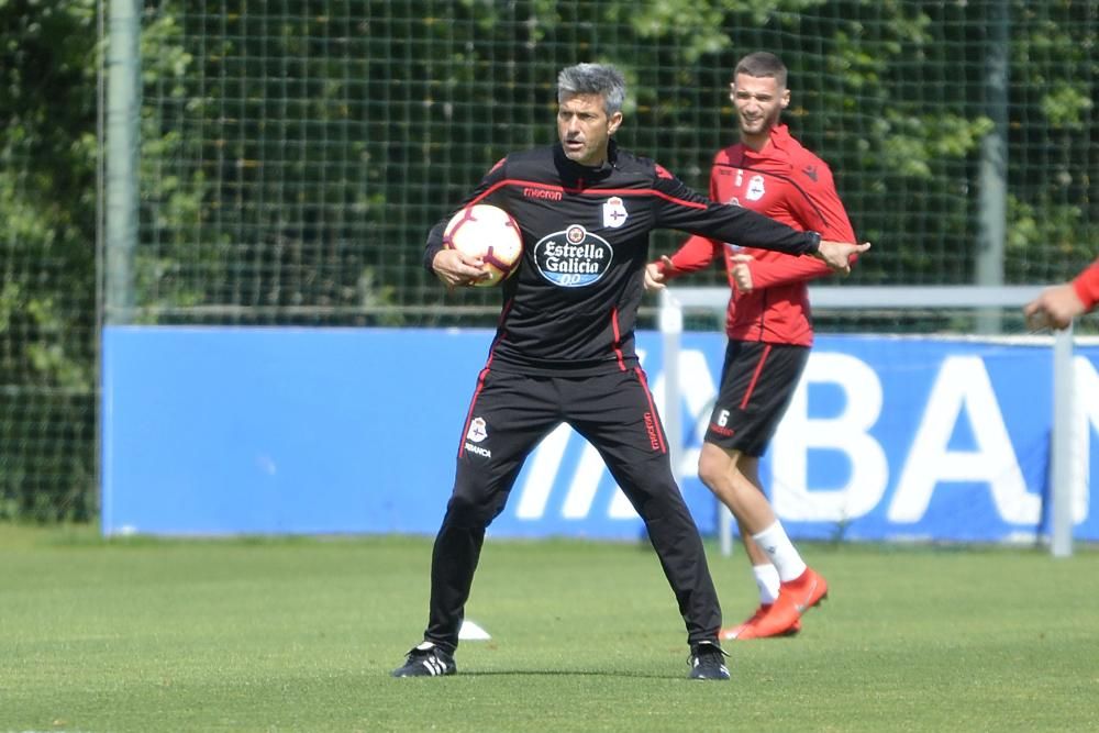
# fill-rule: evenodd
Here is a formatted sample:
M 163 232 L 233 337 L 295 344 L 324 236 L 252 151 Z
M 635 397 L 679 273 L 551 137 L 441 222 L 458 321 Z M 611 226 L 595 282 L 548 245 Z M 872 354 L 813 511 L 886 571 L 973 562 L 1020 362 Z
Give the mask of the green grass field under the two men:
M 1099 552 L 807 545 L 793 640 L 687 648 L 640 545 L 490 538 L 455 677 L 392 679 L 423 537 L 102 541 L 0 526 L 0 731 L 1097 731 Z M 754 606 L 710 549 L 726 620 Z

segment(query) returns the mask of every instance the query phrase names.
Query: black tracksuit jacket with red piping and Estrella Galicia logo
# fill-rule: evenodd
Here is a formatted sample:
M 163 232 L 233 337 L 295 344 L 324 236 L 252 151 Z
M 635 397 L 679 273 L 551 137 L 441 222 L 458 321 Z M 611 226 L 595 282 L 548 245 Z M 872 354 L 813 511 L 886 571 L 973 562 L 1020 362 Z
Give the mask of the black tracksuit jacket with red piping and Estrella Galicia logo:
M 559 144 L 512 153 L 459 207 L 500 207 L 523 234 L 522 265 L 501 286 L 493 369 L 586 376 L 637 366 L 634 324 L 655 229 L 788 254 L 819 246 L 815 232 L 714 203 L 613 141 L 608 158 L 599 167 L 582 166 Z M 429 270 L 448 220 L 428 236 Z

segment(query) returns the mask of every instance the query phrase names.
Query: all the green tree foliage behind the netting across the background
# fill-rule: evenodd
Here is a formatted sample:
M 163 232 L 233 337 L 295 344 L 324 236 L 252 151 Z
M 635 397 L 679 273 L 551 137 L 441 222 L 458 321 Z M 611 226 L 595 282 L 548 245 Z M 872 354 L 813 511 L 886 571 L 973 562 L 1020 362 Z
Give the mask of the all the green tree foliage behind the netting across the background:
M 787 122 L 877 245 L 854 281 L 969 282 L 997 10 L 1009 23 L 1006 279 L 1063 279 L 1095 254 L 1094 2 L 140 8 L 143 321 L 446 322 L 447 296 L 420 266 L 424 233 L 508 151 L 554 138 L 563 66 L 622 67 L 621 143 L 704 190 L 733 138 L 731 69 L 757 48 L 787 62 Z M 0 0 L 0 517 L 92 511 L 97 11 Z

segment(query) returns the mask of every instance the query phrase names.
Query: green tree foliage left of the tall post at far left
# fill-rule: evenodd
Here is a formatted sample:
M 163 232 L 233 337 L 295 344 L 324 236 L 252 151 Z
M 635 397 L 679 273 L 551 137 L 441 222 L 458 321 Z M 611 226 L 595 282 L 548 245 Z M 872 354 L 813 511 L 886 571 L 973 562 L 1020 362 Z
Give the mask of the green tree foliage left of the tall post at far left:
M 0 0 L 0 518 L 95 501 L 96 4 Z

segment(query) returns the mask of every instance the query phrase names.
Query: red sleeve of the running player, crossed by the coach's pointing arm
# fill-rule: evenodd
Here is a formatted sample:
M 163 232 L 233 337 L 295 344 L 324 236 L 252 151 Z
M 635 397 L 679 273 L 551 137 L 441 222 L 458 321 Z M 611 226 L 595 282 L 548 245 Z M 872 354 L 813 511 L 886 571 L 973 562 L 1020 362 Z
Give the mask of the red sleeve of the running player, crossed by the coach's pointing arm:
M 847 210 L 840 200 L 832 179 L 832 170 L 822 163 L 817 165 L 818 178 L 813 186 L 803 187 L 804 197 L 791 197 L 792 209 L 801 226 L 820 232 L 822 240 L 832 242 L 854 242 L 855 231 L 847 219 Z M 852 257 L 854 265 L 856 257 Z M 757 259 L 748 264 L 753 288 L 769 288 L 814 280 L 831 275 L 832 269 L 820 259 L 809 257 L 774 257 Z

